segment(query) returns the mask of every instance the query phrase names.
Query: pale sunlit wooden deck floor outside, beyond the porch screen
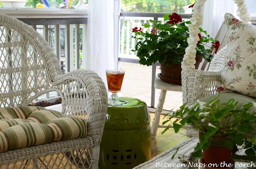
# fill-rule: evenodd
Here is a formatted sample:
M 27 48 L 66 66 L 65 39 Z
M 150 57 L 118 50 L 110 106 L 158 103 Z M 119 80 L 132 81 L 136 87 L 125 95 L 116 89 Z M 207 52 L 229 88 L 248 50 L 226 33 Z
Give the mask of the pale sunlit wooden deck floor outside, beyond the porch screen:
M 125 71 L 124 81 L 121 89 L 123 97 L 140 99 L 151 106 L 151 78 L 152 66 L 140 65 L 137 63 L 119 62 L 120 69 Z M 157 66 L 157 74 L 160 73 Z M 156 74 L 156 76 L 157 76 Z M 159 89 L 156 89 L 155 107 L 160 96 Z M 120 94 L 118 94 L 120 96 Z M 182 105 L 182 92 L 167 91 L 164 102 L 165 110 L 178 109 Z

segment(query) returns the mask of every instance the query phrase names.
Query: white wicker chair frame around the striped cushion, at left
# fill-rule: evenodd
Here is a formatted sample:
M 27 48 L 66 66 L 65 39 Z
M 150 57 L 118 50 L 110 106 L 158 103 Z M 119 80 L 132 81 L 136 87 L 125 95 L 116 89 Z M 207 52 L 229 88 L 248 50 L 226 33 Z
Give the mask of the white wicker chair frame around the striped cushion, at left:
M 87 136 L 0 153 L 6 168 L 98 168 L 107 113 L 107 91 L 90 70 L 63 74 L 52 48 L 27 24 L 0 13 L 0 106 L 28 106 L 59 92 L 62 113 L 86 119 Z

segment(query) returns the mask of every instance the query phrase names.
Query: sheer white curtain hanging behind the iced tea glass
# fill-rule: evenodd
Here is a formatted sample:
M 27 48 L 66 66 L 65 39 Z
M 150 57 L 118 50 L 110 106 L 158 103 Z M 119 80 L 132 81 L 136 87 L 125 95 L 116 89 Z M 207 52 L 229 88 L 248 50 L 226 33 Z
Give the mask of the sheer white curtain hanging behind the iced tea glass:
M 105 70 L 114 69 L 113 3 L 88 1 L 86 69 L 95 71 L 107 86 Z

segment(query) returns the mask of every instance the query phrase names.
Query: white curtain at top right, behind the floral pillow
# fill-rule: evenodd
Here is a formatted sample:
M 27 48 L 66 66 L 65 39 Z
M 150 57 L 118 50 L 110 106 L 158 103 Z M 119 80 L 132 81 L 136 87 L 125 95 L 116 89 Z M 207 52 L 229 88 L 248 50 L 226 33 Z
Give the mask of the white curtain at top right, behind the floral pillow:
M 225 13 L 231 13 L 236 17 L 235 6 L 233 0 L 207 0 L 203 8 L 203 30 L 214 38 L 224 22 Z

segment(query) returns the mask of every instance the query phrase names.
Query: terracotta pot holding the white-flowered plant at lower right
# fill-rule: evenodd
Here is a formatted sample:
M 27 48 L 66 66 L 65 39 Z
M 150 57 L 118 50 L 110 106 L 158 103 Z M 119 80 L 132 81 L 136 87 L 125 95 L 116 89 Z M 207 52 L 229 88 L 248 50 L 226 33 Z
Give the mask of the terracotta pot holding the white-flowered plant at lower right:
M 209 139 L 209 149 L 203 150 L 204 161 L 206 164 L 219 164 L 219 166 L 216 168 L 223 168 L 220 167 L 220 163 L 222 163 L 223 161 L 226 164 L 229 164 L 232 150 L 225 147 L 225 141 L 228 139 L 229 138 L 212 137 Z

